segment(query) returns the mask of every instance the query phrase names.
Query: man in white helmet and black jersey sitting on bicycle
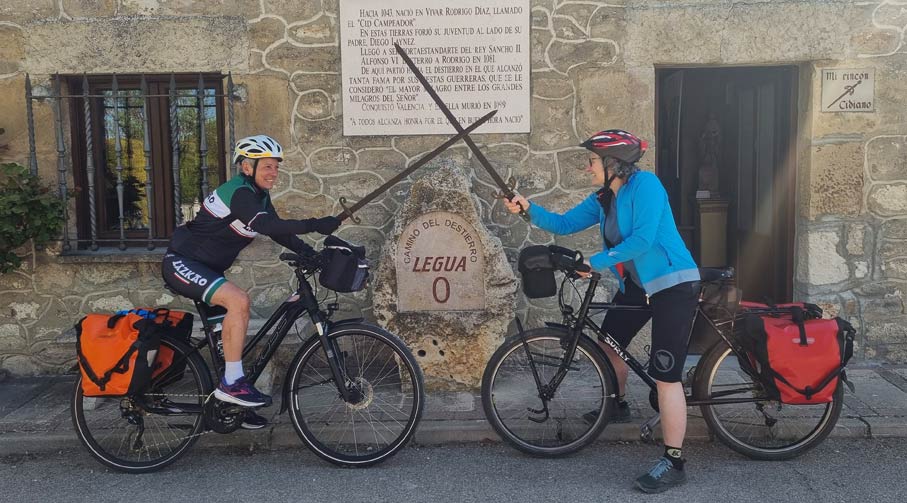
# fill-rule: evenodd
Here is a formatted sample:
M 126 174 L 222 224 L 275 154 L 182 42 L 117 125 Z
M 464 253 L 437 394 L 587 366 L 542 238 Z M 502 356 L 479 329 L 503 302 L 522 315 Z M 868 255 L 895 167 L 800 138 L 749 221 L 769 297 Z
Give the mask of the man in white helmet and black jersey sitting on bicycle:
M 243 373 L 242 349 L 249 327 L 249 295 L 224 278 L 224 271 L 258 234 L 299 254 L 313 253 L 297 234 L 331 234 L 340 220 L 328 216 L 281 219 L 268 191 L 277 181 L 283 148 L 273 138 L 257 135 L 236 143 L 233 162 L 240 175 L 205 198 L 195 219 L 173 232 L 161 264 L 164 282 L 177 293 L 226 309 L 223 344 L 226 369 L 214 392 L 219 399 L 244 407 L 268 405 L 271 398 L 252 386 Z M 267 421 L 249 411 L 243 427 L 264 427 Z

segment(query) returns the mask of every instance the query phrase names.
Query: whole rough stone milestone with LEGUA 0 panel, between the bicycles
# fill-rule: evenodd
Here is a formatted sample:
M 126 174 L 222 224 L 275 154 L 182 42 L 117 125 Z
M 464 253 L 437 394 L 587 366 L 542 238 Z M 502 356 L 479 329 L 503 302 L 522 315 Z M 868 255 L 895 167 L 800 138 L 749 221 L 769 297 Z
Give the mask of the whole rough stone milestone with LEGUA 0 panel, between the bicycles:
M 474 198 L 456 167 L 417 180 L 372 282 L 375 317 L 410 347 L 429 389 L 479 387 L 514 315 L 516 277 Z

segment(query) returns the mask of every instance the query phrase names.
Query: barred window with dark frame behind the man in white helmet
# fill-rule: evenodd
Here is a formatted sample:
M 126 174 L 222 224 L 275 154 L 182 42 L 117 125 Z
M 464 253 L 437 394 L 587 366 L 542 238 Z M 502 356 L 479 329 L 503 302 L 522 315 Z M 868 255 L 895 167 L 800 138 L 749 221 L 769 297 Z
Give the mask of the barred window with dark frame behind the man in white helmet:
M 195 216 L 202 198 L 226 180 L 223 77 L 145 75 L 144 84 L 139 75 L 64 78 L 74 250 L 166 246 L 173 229 Z

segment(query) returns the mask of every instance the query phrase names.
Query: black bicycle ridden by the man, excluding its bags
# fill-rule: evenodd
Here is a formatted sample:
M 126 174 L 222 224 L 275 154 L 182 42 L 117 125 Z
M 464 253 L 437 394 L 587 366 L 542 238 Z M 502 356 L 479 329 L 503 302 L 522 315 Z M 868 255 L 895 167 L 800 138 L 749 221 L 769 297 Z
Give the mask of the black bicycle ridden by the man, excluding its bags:
M 325 265 L 324 252 L 311 257 L 280 255 L 295 271 L 298 288 L 249 340 L 243 357 L 264 347 L 249 369 L 255 382 L 293 332 L 302 346 L 287 369 L 280 413 L 290 410 L 302 441 L 331 463 L 364 467 L 379 463 L 413 436 L 425 403 L 422 371 L 400 339 L 360 319 L 332 321 L 336 302 L 322 309 L 309 279 Z M 79 439 L 104 465 L 124 472 L 150 472 L 176 461 L 199 436 L 230 433 L 246 409 L 213 397 L 223 356 L 210 306 L 196 302 L 205 337 L 200 341 L 166 336 L 161 347 L 173 363 L 144 392 L 114 398 L 82 394 L 76 382 L 72 419 Z M 315 328 L 300 334 L 308 315 Z M 207 346 L 215 374 L 200 349 Z

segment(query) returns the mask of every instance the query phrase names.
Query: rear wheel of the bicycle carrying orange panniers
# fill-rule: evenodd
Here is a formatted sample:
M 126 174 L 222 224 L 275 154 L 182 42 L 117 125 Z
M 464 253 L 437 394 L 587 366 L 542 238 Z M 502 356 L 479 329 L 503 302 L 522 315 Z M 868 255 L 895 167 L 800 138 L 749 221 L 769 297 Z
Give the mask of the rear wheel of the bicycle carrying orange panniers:
M 76 434 L 92 456 L 114 470 L 159 470 L 183 455 L 204 427 L 202 407 L 212 389 L 207 366 L 183 342 L 164 337 L 161 347 L 174 352 L 174 362 L 188 355 L 186 369 L 165 371 L 145 393 L 86 397 L 81 377 L 76 381 L 71 406 Z

